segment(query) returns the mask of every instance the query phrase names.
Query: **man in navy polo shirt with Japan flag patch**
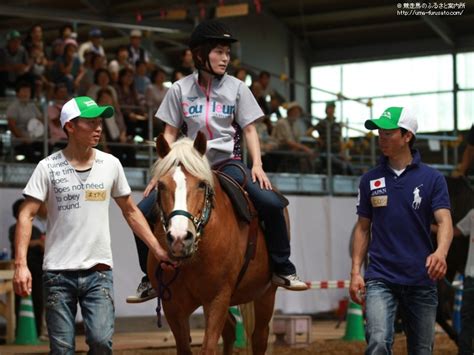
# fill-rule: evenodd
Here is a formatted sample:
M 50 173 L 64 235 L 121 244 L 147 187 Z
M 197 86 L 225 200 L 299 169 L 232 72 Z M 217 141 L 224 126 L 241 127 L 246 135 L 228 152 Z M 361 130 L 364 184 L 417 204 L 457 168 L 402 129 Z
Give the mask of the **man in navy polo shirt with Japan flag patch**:
M 409 109 L 390 107 L 365 127 L 379 131 L 382 151 L 379 165 L 359 184 L 349 288 L 354 302 L 365 302 L 366 354 L 392 353 L 397 306 L 404 317 L 408 353 L 431 354 L 436 282 L 446 273 L 453 238 L 446 181 L 413 149 L 418 123 Z M 430 236 L 433 216 L 436 248 Z

